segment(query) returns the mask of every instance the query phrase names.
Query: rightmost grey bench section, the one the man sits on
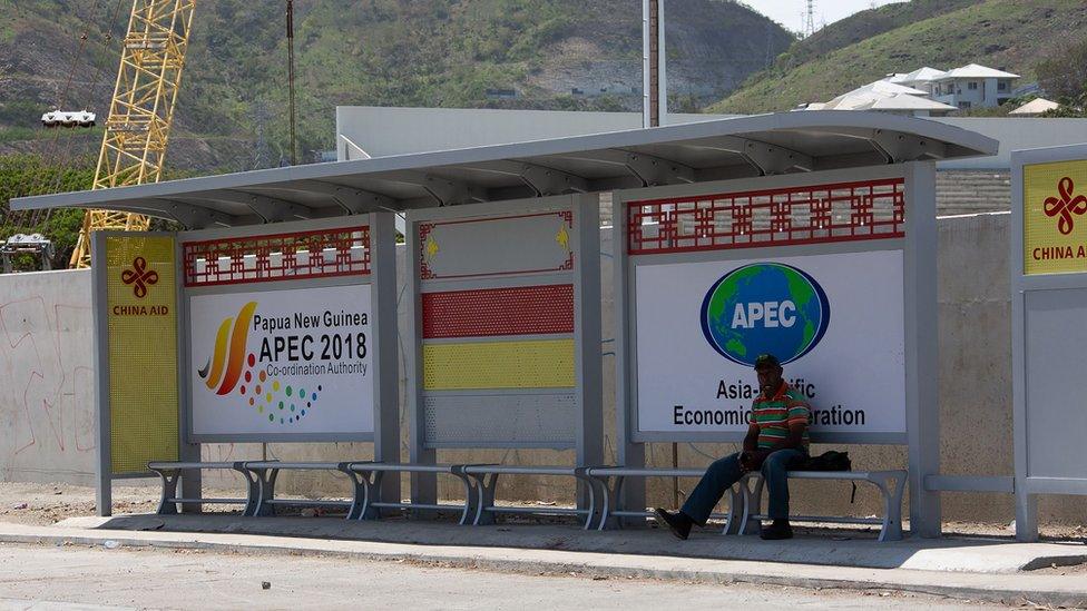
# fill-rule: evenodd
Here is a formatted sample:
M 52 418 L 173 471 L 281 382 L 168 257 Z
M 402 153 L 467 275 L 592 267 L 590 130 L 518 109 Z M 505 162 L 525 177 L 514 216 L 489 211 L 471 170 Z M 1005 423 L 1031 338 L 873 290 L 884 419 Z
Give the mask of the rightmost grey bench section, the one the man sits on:
M 826 522 L 831 524 L 879 524 L 880 541 L 902 539 L 902 493 L 905 490 L 907 471 L 790 471 L 790 480 L 839 480 L 846 482 L 868 482 L 879 489 L 883 496 L 883 518 L 851 518 L 834 515 L 790 515 L 797 522 Z M 752 490 L 747 482 L 754 480 Z M 747 534 L 752 523 L 768 520 L 760 513 L 764 481 L 762 474 L 753 471 L 741 480 L 744 515 L 740 521 L 740 534 Z

